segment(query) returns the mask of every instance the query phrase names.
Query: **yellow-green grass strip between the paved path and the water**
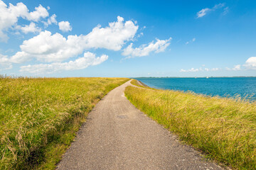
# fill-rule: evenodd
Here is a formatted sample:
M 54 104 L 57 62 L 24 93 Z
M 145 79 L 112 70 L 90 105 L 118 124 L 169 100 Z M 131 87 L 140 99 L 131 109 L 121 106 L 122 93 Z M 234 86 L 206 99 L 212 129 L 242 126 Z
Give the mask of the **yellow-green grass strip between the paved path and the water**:
M 207 157 L 234 169 L 256 169 L 256 102 L 132 86 L 125 94 Z

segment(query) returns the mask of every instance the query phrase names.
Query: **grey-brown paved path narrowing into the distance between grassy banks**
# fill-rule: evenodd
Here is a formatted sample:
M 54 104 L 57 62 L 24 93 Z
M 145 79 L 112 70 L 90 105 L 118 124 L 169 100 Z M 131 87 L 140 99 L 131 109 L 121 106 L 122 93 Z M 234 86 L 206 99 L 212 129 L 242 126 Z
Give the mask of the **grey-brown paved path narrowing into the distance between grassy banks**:
M 222 169 L 129 103 L 129 85 L 97 103 L 57 169 Z

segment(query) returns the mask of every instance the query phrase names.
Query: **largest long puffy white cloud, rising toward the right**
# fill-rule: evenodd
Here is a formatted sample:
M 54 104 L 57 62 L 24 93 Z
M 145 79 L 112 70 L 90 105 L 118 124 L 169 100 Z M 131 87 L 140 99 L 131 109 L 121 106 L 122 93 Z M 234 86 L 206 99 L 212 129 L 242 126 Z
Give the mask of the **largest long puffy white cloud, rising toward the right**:
M 11 57 L 12 62 L 21 63 L 35 58 L 41 62 L 62 62 L 70 57 L 82 54 L 91 48 L 105 48 L 107 50 L 121 50 L 124 42 L 132 40 L 138 26 L 122 17 L 108 27 L 97 26 L 87 35 L 69 35 L 64 38 L 60 33 L 51 34 L 45 30 L 35 37 L 24 40 L 20 45 L 21 51 Z M 160 40 L 159 40 L 160 41 Z M 161 44 L 161 41 L 158 42 Z M 159 47 L 156 51 L 163 50 Z

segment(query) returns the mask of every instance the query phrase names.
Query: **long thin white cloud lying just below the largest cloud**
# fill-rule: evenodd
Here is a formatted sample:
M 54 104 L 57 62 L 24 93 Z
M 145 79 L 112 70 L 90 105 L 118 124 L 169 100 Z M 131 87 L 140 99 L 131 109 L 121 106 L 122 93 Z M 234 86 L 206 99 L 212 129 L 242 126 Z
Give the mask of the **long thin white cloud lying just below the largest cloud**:
M 95 54 L 91 52 L 85 52 L 84 57 L 80 57 L 75 61 L 70 62 L 54 62 L 52 64 L 35 64 L 22 66 L 20 72 L 30 72 L 30 73 L 53 73 L 62 70 L 75 70 L 75 69 L 85 69 L 89 66 L 94 66 L 101 64 L 107 60 L 107 55 L 102 55 L 101 57 L 95 57 Z

